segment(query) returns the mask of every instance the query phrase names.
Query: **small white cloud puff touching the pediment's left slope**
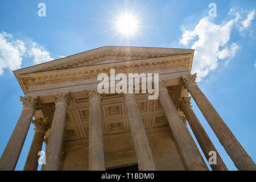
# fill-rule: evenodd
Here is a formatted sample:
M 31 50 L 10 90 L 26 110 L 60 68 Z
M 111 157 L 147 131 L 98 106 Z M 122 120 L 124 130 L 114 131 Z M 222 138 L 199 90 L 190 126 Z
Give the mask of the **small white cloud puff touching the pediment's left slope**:
M 34 64 L 45 63 L 53 60 L 53 57 L 49 55 L 49 52 L 35 42 L 32 43 L 31 49 L 29 49 L 27 52 L 28 56 L 33 57 Z

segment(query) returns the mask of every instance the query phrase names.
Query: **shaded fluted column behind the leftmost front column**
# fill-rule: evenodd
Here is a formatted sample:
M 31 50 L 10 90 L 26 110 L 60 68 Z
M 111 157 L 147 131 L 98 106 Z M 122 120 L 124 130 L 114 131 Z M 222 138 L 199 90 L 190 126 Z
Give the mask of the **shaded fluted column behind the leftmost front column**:
M 37 171 L 38 169 L 38 152 L 42 150 L 44 135 L 49 128 L 49 122 L 47 119 L 48 118 L 40 118 L 32 121 L 35 125 L 35 133 L 23 171 Z

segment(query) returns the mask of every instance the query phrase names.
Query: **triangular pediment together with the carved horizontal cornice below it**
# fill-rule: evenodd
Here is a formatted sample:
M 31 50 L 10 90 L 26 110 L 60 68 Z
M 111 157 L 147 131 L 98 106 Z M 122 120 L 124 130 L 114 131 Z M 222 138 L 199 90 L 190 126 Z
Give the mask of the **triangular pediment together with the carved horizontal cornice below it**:
M 106 46 L 14 71 L 24 93 L 28 87 L 87 80 L 100 73 L 191 70 L 193 49 Z

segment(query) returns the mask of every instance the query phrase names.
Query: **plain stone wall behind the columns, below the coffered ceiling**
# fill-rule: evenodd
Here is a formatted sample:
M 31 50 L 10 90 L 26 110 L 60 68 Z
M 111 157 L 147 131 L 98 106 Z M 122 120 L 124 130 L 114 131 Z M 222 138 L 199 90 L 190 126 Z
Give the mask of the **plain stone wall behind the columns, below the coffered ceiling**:
M 185 170 L 183 160 L 168 127 L 156 133 L 147 131 L 156 170 Z M 104 136 L 106 170 L 137 164 L 130 133 Z M 88 170 L 88 139 L 65 144 L 60 170 Z

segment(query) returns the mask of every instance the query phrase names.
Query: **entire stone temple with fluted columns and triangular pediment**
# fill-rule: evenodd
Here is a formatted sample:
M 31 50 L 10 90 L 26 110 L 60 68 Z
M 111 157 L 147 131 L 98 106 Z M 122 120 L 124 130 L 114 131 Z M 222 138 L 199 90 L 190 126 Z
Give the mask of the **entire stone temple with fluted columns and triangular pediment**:
M 24 170 L 227 170 L 191 106 L 203 113 L 239 170 L 255 170 L 243 149 L 191 75 L 193 49 L 106 46 L 14 71 L 24 92 L 20 118 L 0 159 L 14 170 L 29 127 L 34 139 Z M 159 97 L 100 94 L 100 73 L 159 73 Z M 191 97 L 188 97 L 188 94 Z M 32 118 L 35 119 L 32 119 Z M 200 144 L 200 153 L 187 122 Z

